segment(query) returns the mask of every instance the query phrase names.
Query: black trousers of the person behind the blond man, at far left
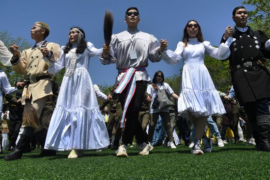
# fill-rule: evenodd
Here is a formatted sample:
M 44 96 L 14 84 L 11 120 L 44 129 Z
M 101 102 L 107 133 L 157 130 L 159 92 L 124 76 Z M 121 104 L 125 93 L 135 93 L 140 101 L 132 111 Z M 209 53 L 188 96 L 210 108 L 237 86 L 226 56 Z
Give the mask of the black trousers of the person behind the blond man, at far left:
M 22 126 L 22 121 L 10 121 L 9 123 L 9 133 L 8 133 L 8 138 L 9 138 L 9 144 L 10 146 L 14 147 L 16 145 L 16 140 L 19 135 L 20 129 Z

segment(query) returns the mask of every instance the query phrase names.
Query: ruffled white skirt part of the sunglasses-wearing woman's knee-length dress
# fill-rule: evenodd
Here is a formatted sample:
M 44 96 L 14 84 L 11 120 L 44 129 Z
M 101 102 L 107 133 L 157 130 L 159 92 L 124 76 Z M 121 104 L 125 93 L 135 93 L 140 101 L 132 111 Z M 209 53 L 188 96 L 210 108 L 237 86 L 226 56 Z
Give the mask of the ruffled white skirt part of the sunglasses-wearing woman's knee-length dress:
M 188 111 L 195 117 L 226 113 L 204 64 L 186 64 L 183 67 L 178 112 L 188 117 Z

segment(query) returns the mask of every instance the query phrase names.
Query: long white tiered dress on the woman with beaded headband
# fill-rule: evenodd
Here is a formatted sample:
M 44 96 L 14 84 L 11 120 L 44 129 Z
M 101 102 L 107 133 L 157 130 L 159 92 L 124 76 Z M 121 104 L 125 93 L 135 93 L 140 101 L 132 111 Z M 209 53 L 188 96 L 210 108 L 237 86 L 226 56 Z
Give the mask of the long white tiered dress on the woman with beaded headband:
M 108 132 L 88 73 L 90 57 L 98 55 L 102 49 L 96 49 L 88 42 L 87 49 L 77 55 L 76 63 L 72 63 L 70 57 L 75 54 L 76 45 L 67 54 L 63 52 L 64 48 L 61 47 L 57 63 L 48 68 L 50 74 L 57 74 L 65 67 L 66 73 L 48 129 L 45 149 L 104 148 L 109 145 Z

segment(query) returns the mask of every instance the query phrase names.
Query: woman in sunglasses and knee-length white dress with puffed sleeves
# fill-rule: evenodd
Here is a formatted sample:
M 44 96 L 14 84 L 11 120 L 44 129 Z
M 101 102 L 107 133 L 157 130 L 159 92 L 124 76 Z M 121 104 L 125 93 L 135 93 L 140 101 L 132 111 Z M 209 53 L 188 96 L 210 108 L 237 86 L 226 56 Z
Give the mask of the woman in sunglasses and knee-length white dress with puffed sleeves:
M 225 33 L 232 34 L 228 26 Z M 164 51 L 167 41 L 162 40 L 162 58 L 168 64 L 176 64 L 183 59 L 180 95 L 178 99 L 178 112 L 188 117 L 196 130 L 195 143 L 192 154 L 203 154 L 200 148 L 200 139 L 205 135 L 206 119 L 210 115 L 226 113 L 221 99 L 217 93 L 210 74 L 204 65 L 205 54 L 216 59 L 226 59 L 230 55 L 229 46 L 233 39 L 220 44 L 219 48 L 211 46 L 204 41 L 201 28 L 195 20 L 191 20 L 184 28 L 182 42 L 179 42 L 175 51 Z

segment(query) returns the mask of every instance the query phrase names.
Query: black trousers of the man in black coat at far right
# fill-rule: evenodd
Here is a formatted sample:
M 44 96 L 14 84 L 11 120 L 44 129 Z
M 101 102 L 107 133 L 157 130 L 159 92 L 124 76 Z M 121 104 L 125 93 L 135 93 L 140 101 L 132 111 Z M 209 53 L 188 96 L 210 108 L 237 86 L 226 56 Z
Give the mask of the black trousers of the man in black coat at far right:
M 268 98 L 263 98 L 256 102 L 244 103 L 243 106 L 247 115 L 247 120 L 251 126 L 253 138 L 255 139 L 255 142 L 258 143 L 259 132 L 256 117 L 260 115 L 269 115 L 269 100 Z

